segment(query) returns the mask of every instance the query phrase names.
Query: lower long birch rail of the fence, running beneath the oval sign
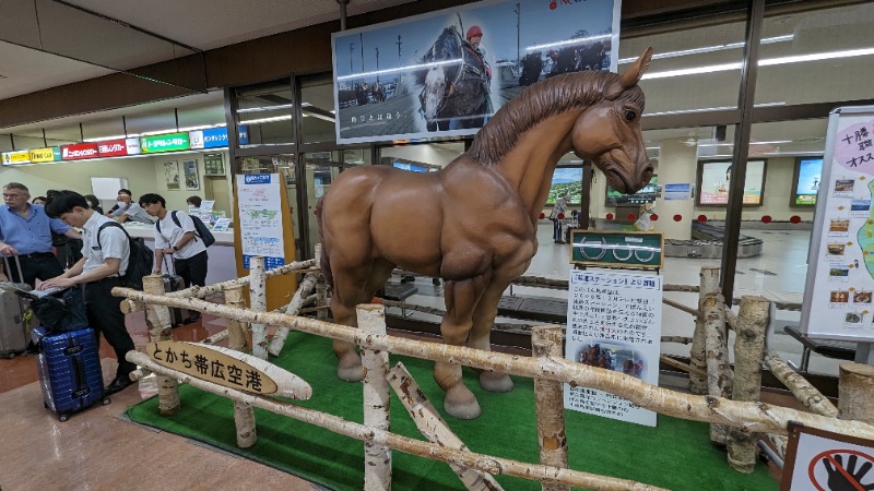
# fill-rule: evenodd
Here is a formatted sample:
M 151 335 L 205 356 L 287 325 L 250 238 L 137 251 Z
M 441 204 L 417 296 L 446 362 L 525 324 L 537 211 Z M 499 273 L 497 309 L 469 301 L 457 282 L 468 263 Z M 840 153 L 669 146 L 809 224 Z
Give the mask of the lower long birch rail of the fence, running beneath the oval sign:
M 135 290 L 130 290 L 135 291 Z M 357 331 L 357 330 L 355 330 Z M 373 335 L 368 335 L 373 336 Z M 422 343 L 420 340 L 412 340 L 417 344 L 432 344 Z M 471 348 L 466 348 L 471 349 Z M 525 357 L 527 358 L 527 357 Z M 365 424 L 347 421 L 339 416 L 333 416 L 327 412 L 317 411 L 315 409 L 297 406 L 292 403 L 285 403 L 272 397 L 258 396 L 247 394 L 231 387 L 208 382 L 205 380 L 194 379 L 187 373 L 178 370 L 168 369 L 163 367 L 149 358 L 147 355 L 139 351 L 130 351 L 128 360 L 153 370 L 176 376 L 184 383 L 190 384 L 192 387 L 211 394 L 217 394 L 222 397 L 228 397 L 234 400 L 241 400 L 251 404 L 255 407 L 275 412 L 277 415 L 287 416 L 298 421 L 304 421 L 309 424 L 324 428 L 333 431 L 334 433 L 343 434 L 356 440 L 369 441 L 381 445 L 390 446 L 394 450 L 405 452 L 408 454 L 418 455 L 421 457 L 441 460 L 445 463 L 456 463 L 460 466 L 472 467 L 488 474 L 504 474 L 521 479 L 535 480 L 535 481 L 559 481 L 566 482 L 570 486 L 584 489 L 598 489 L 604 491 L 611 490 L 633 490 L 633 491 L 662 491 L 662 488 L 645 484 L 641 482 L 619 479 L 610 476 L 600 476 L 597 474 L 582 472 L 571 469 L 558 469 L 555 467 L 541 466 L 538 464 L 528 464 L 508 458 L 496 457 L 492 455 L 477 454 L 470 451 L 458 451 L 454 448 L 444 447 L 434 443 L 426 443 L 421 440 L 402 436 L 388 431 L 377 430 L 369 428 Z M 594 369 L 593 369 L 594 370 Z M 603 371 L 603 370 L 602 370 Z M 857 423 L 858 424 L 858 423 Z M 666 491 L 666 490 L 664 490 Z

